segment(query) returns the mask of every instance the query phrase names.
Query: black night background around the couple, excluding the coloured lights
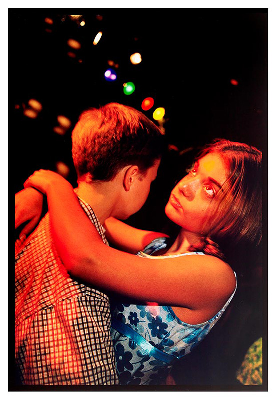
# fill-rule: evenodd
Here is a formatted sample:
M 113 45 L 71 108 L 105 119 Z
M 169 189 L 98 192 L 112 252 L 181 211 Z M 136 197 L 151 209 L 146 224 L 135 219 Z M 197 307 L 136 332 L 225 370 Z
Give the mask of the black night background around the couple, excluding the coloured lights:
M 79 114 L 112 101 L 142 111 L 145 97 L 155 101 L 143 111 L 151 120 L 155 108 L 165 108 L 168 148 L 148 201 L 130 224 L 169 228 L 163 212 L 169 192 L 197 149 L 214 138 L 256 146 L 266 166 L 266 9 L 9 9 L 8 24 L 12 194 L 34 170 L 56 170 L 58 161 L 68 165 L 67 179 L 76 185 L 70 136 Z M 103 35 L 94 46 L 99 31 Z M 68 39 L 77 40 L 81 48 L 70 48 Z M 129 59 L 135 52 L 142 56 L 138 65 Z M 113 68 L 113 82 L 104 78 L 108 60 L 119 65 Z M 126 96 L 123 83 L 128 81 L 136 90 Z M 29 99 L 43 106 L 35 119 L 24 115 Z M 64 135 L 53 131 L 58 115 L 72 123 Z M 264 217 L 265 212 L 266 206 Z M 246 290 L 237 293 L 230 316 L 222 318 L 195 355 L 174 368 L 178 384 L 237 384 L 234 373 L 246 350 L 265 336 L 266 303 L 261 299 L 266 286 L 260 282 L 266 276 L 266 241 L 258 250 L 236 251 L 239 264 L 246 266 L 240 284 Z

